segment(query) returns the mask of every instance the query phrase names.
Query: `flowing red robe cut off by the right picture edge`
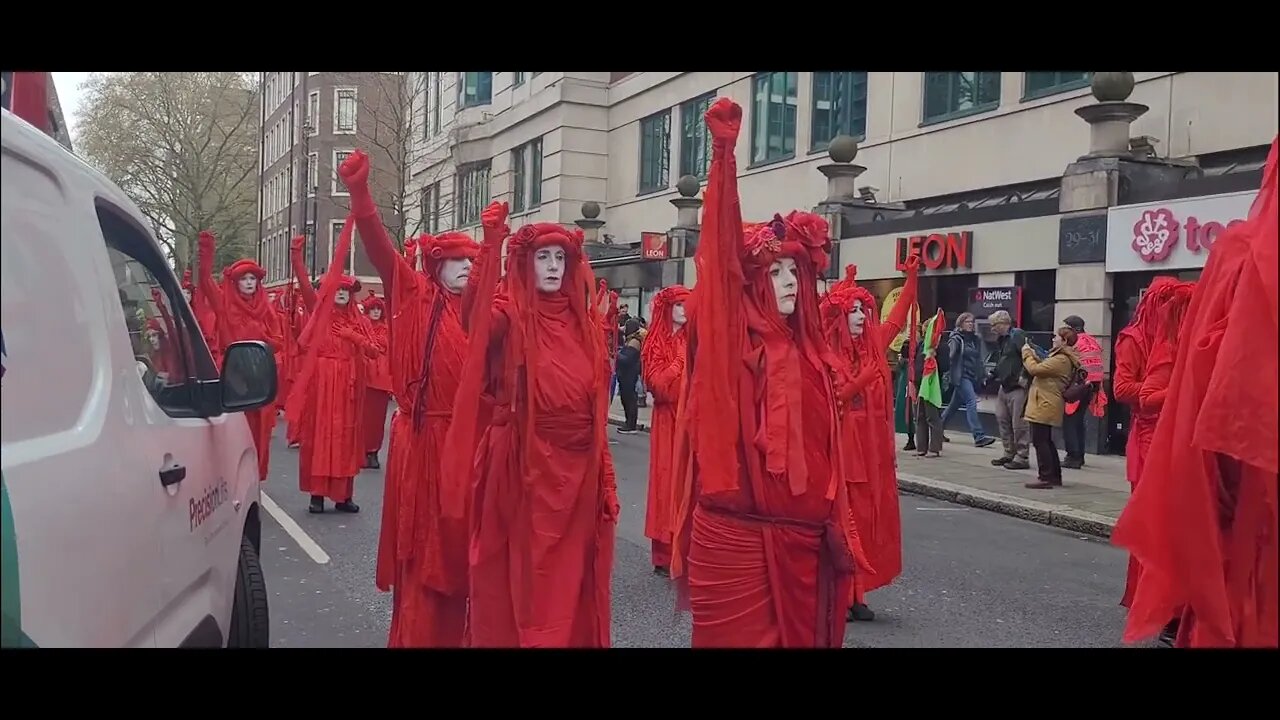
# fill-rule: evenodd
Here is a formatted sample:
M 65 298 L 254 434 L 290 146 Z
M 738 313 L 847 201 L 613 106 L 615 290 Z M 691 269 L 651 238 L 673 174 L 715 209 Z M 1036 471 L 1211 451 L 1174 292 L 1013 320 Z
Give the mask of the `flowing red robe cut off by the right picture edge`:
M 1277 642 L 1277 143 L 1249 220 L 1213 242 L 1142 483 L 1112 541 L 1142 561 L 1125 641 L 1184 607 L 1181 647 Z

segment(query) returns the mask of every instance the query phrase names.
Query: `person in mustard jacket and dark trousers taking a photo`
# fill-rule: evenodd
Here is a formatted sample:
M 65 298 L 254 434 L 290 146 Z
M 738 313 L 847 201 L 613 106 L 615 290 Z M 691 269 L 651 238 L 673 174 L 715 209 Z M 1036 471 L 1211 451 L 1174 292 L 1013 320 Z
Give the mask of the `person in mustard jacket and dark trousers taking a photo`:
M 1062 465 L 1053 445 L 1053 428 L 1062 424 L 1066 400 L 1062 392 L 1080 369 L 1080 356 L 1075 354 L 1075 331 L 1068 327 L 1053 333 L 1053 348 L 1044 360 L 1036 356 L 1029 340 L 1023 343 L 1023 366 L 1032 375 L 1027 395 L 1027 421 L 1036 445 L 1037 480 L 1027 483 L 1030 489 L 1062 487 Z

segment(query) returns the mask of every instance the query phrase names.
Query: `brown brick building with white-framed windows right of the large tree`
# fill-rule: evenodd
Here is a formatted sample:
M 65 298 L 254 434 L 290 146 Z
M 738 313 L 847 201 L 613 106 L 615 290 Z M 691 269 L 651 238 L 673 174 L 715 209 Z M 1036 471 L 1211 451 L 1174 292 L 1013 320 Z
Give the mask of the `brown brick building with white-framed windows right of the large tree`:
M 402 73 L 259 73 L 261 173 L 259 176 L 259 261 L 268 287 L 288 283 L 289 245 L 305 234 L 312 277 L 329 268 L 349 196 L 338 165 L 357 147 L 370 156 L 370 188 L 388 228 L 402 224 L 403 124 L 407 115 Z M 347 272 L 380 293 L 380 281 L 358 241 Z

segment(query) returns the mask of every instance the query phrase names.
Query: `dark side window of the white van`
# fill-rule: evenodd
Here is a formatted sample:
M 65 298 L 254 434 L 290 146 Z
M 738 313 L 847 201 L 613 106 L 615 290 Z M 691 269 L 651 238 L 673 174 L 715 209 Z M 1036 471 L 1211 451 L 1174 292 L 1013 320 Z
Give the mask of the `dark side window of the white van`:
M 102 237 L 115 275 L 124 327 L 138 377 L 156 404 L 173 418 L 195 416 L 200 380 L 218 372 L 155 243 L 118 211 L 100 202 Z

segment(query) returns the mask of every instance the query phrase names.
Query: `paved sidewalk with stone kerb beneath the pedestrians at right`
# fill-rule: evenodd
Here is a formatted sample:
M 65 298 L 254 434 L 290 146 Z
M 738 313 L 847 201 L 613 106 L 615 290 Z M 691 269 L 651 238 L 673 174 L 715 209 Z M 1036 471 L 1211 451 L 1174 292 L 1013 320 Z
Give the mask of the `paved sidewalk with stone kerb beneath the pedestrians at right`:
M 649 428 L 652 406 L 641 407 L 637 418 L 641 429 Z M 621 402 L 614 398 L 609 423 L 623 424 Z M 1036 479 L 1036 451 L 1030 452 L 1030 469 L 1006 470 L 991 464 L 1002 455 L 997 439 L 987 447 L 974 447 L 968 433 L 951 430 L 951 442 L 942 446 L 941 457 L 920 457 L 904 452 L 906 436 L 897 436 L 899 489 L 978 507 L 1023 520 L 1053 525 L 1100 538 L 1110 538 L 1111 529 L 1129 501 L 1125 459 L 1114 455 L 1088 455 L 1084 468 L 1062 470 L 1062 487 L 1028 489 L 1024 483 Z

